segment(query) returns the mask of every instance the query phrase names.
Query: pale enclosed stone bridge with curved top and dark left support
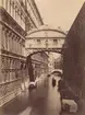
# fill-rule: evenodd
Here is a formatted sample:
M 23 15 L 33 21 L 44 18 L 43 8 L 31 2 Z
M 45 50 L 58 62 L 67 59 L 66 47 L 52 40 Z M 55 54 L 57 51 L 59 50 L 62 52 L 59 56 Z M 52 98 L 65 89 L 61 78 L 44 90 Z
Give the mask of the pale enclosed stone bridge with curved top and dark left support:
M 27 33 L 25 41 L 25 50 L 31 78 L 33 78 L 34 76 L 31 57 L 37 53 L 45 51 L 61 54 L 65 37 L 66 34 L 64 32 L 60 30 L 50 28 L 48 26 L 36 28 Z

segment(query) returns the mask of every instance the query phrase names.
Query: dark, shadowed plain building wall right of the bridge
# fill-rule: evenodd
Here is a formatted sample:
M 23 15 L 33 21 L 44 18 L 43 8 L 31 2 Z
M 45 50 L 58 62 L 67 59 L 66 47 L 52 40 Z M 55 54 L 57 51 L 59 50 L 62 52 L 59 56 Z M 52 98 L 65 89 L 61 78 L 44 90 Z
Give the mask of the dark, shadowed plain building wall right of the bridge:
M 63 77 L 85 100 L 85 3 L 74 20 L 64 44 Z

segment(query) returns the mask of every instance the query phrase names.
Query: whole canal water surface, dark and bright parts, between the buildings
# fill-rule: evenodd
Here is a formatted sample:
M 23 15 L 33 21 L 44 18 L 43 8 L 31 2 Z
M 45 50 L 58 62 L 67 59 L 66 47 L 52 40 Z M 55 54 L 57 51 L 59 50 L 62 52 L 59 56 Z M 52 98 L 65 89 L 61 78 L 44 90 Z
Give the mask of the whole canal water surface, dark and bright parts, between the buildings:
M 52 87 L 52 78 L 56 79 L 56 87 Z M 5 104 L 0 108 L 0 115 L 60 115 L 59 79 L 53 74 L 50 78 L 42 77 L 37 83 L 37 89 L 23 92 Z

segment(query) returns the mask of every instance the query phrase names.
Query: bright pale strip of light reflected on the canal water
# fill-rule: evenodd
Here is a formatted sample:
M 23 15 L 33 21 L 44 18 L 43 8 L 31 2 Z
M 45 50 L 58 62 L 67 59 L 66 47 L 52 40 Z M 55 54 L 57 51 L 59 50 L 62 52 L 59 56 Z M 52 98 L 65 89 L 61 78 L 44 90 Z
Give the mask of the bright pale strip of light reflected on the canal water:
M 56 79 L 56 87 L 52 87 L 52 78 Z M 48 82 L 48 96 L 46 101 L 46 115 L 59 115 L 61 112 L 60 93 L 58 92 L 58 81 L 60 78 L 52 76 Z

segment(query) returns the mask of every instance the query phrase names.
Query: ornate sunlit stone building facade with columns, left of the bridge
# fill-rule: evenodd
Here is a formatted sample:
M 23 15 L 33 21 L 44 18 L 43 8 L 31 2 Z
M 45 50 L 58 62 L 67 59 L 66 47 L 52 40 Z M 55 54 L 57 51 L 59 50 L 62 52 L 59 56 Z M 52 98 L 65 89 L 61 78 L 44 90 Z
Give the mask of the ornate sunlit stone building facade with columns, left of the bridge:
M 41 24 L 34 0 L 0 0 L 0 106 L 27 87 L 25 36 Z

